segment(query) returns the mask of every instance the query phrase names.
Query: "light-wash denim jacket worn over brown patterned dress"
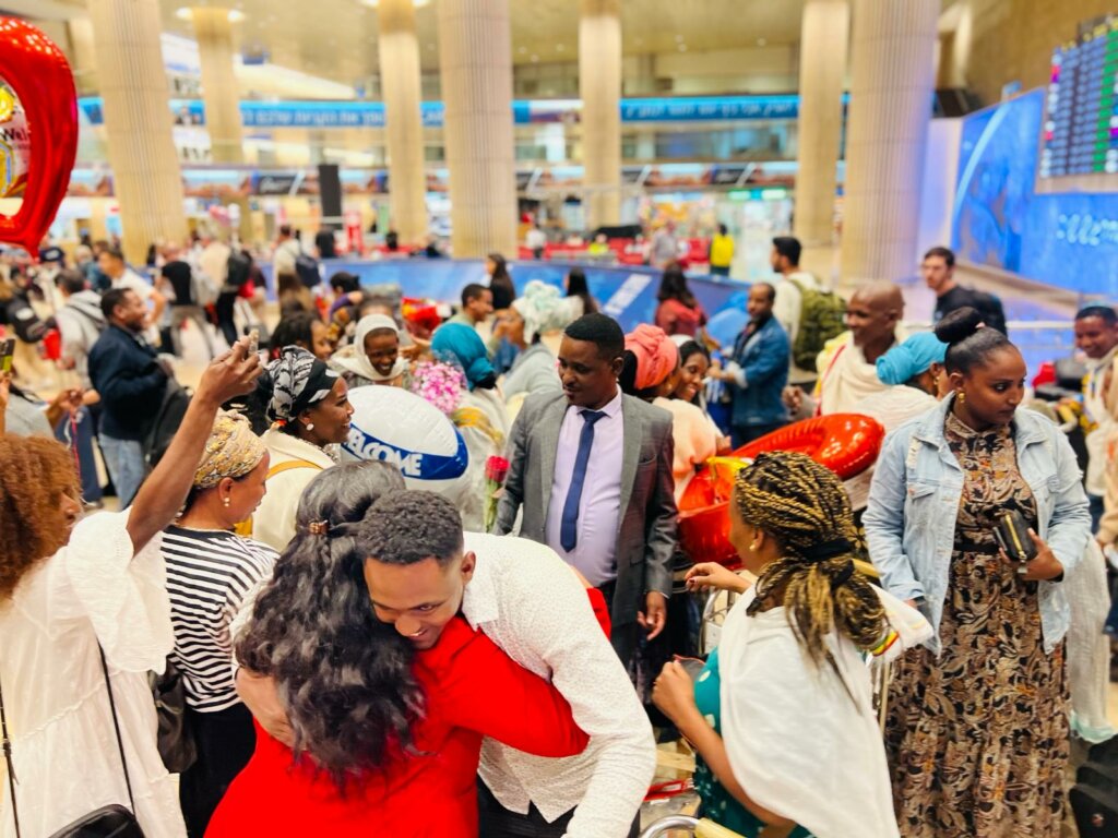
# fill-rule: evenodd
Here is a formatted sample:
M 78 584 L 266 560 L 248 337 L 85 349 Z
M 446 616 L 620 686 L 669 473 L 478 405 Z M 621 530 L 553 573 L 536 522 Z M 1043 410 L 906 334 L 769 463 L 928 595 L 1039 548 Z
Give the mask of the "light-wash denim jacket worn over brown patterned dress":
M 963 469 L 948 447 L 944 423 L 954 398 L 911 419 L 885 438 L 863 524 L 870 558 L 894 597 L 923 598 L 920 610 L 936 635 L 947 596 Z M 1068 578 L 1091 537 L 1082 475 L 1067 438 L 1046 418 L 1018 409 L 1013 420 L 1017 467 L 1036 499 L 1039 535 Z M 1041 630 L 1051 651 L 1068 631 L 1070 607 L 1060 582 L 1040 583 Z

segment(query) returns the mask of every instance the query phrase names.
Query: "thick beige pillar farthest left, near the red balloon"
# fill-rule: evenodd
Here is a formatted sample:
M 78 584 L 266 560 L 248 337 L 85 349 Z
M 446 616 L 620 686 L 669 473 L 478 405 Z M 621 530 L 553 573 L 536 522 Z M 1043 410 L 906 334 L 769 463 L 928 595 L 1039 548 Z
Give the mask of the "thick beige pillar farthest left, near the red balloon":
M 149 245 L 182 241 L 187 235 L 159 2 L 89 0 L 88 7 L 124 255 L 143 264 Z

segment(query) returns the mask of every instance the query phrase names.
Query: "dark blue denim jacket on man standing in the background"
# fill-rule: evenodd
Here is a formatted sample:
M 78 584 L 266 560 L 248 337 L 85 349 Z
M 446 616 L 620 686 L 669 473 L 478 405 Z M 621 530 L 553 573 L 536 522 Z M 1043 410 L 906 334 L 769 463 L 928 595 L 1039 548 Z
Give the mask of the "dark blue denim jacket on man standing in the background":
M 746 385 L 730 383 L 733 412 L 730 425 L 745 428 L 774 425 L 788 418 L 781 394 L 788 383 L 788 333 L 776 317 L 746 339 L 738 335 L 733 344 L 733 361 L 745 374 Z

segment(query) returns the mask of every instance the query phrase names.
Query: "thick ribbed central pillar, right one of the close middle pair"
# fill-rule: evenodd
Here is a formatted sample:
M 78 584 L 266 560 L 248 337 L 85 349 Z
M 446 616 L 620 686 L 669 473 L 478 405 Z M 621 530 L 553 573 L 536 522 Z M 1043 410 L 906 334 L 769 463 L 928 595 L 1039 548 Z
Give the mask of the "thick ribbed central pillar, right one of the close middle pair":
M 509 0 L 439 0 L 438 54 L 456 258 L 517 255 Z

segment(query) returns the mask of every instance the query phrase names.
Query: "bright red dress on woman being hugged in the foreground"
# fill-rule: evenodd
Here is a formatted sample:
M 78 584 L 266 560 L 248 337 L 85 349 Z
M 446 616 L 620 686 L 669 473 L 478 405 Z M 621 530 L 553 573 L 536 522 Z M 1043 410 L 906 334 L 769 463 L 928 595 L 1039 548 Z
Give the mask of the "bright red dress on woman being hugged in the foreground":
M 581 753 L 587 736 L 543 678 L 517 665 L 459 617 L 416 655 L 427 714 L 414 754 L 357 775 L 345 792 L 309 761 L 256 729 L 256 752 L 214 813 L 207 838 L 408 836 L 476 838 L 477 761 L 492 736 L 540 756 Z

